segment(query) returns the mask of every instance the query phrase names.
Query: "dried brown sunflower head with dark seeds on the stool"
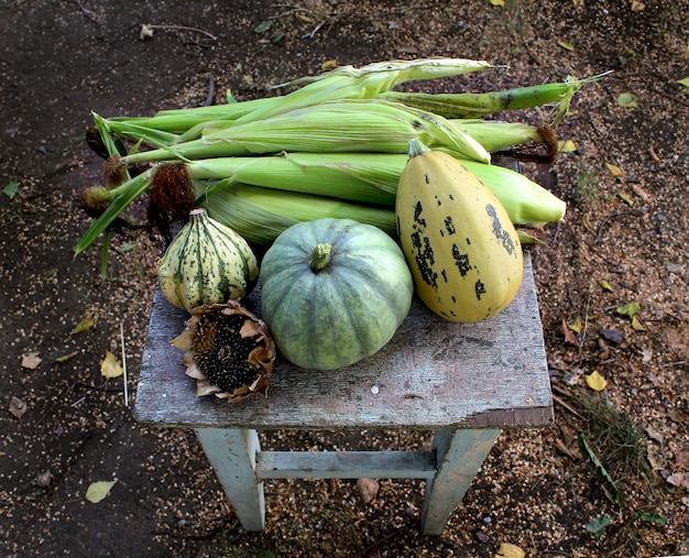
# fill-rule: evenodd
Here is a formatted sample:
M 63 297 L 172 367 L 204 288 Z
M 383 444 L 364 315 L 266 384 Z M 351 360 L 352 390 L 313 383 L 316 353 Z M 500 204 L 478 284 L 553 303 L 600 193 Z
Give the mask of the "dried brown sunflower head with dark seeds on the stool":
M 197 380 L 197 396 L 215 394 L 236 403 L 267 394 L 275 343 L 266 324 L 237 300 L 194 308 L 172 343 L 186 351 L 183 363 Z

